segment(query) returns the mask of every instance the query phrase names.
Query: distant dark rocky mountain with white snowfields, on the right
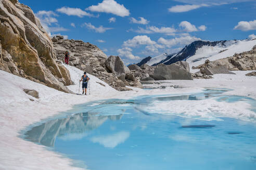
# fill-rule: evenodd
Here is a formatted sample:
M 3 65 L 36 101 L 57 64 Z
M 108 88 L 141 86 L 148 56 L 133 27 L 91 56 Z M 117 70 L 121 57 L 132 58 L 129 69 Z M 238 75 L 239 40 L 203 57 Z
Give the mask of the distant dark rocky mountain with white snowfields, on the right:
M 193 43 L 185 46 L 181 51 L 175 54 L 166 55 L 165 58 L 161 58 L 158 55 L 150 60 L 147 59 L 146 64 L 156 66 L 160 63 L 169 65 L 177 61 L 187 61 L 190 66 L 204 63 L 206 59 L 214 60 L 226 58 L 232 56 L 235 53 L 245 52 L 252 49 L 255 45 L 255 39 L 253 40 L 221 40 L 221 41 L 194 41 Z M 215 59 L 216 58 L 216 59 Z M 142 61 L 144 61 L 143 59 Z

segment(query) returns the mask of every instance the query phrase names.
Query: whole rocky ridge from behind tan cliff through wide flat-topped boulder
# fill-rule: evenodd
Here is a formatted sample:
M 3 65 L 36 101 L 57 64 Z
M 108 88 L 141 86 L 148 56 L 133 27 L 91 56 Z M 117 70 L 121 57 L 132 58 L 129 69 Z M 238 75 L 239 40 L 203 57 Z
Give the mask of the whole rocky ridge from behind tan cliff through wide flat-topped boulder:
M 82 40 L 64 39 L 63 36 L 52 38 L 57 59 L 64 62 L 65 52 L 70 53 L 70 65 L 85 70 L 107 82 L 116 90 L 131 90 L 125 86 L 143 88 L 140 81 L 166 79 L 193 79 L 187 62 L 179 61 L 167 67 L 131 64 L 126 67 L 119 56 L 109 56 L 97 46 Z M 158 70 L 161 70 L 158 72 Z M 162 76 L 164 75 L 164 76 Z

